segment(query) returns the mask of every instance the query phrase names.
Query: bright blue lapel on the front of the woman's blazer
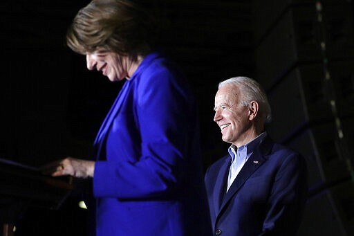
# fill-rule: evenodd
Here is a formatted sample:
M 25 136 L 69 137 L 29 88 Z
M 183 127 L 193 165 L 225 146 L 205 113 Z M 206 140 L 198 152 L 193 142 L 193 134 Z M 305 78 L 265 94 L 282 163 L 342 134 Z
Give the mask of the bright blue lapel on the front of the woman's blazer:
M 100 152 L 101 152 L 104 140 L 105 140 L 105 136 L 106 136 L 107 132 L 109 131 L 109 128 L 111 127 L 113 119 L 115 118 L 115 115 L 118 114 L 118 111 L 122 107 L 124 99 L 127 97 L 127 91 L 129 91 L 129 84 L 130 84 L 130 81 L 126 81 L 124 83 L 122 90 L 118 94 L 118 97 L 115 98 L 113 106 L 109 110 L 109 113 L 107 114 L 106 118 L 104 118 L 104 121 L 100 127 L 100 130 L 97 133 L 97 136 L 95 138 L 95 142 L 93 143 L 93 146 L 95 147 L 96 160 L 98 160 L 98 158 L 100 156 Z

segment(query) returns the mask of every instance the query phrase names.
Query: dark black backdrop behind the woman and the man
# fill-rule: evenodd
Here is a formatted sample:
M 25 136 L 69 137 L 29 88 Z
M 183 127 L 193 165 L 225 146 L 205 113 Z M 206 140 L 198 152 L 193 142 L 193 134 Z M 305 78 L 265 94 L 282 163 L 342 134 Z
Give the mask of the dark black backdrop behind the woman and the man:
M 85 57 L 65 45 L 66 28 L 86 3 L 1 1 L 1 158 L 40 166 L 69 155 L 89 157 L 122 83 L 88 71 Z M 196 95 L 204 167 L 228 147 L 213 122 L 218 82 L 254 78 L 272 106 L 268 132 L 308 161 L 310 193 L 299 235 L 353 235 L 351 1 L 142 3 L 160 21 L 160 46 Z M 87 212 L 77 207 L 79 200 L 73 194 L 59 210 L 28 208 L 12 222 L 15 235 L 85 235 Z

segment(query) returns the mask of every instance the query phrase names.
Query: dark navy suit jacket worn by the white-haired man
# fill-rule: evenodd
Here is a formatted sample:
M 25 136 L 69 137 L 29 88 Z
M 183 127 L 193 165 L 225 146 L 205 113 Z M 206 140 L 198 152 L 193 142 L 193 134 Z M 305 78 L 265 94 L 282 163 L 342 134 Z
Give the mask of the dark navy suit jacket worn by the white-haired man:
M 306 202 L 306 163 L 296 152 L 265 138 L 226 193 L 231 157 L 205 174 L 215 235 L 295 235 Z

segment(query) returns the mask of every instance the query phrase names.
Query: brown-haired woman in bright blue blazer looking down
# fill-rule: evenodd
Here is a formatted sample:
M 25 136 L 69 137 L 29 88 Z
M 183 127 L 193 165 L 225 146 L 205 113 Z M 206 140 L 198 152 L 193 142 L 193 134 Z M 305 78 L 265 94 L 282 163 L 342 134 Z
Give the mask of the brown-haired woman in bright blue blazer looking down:
M 94 161 L 65 158 L 53 176 L 93 178 L 98 236 L 209 235 L 196 105 L 175 64 L 151 51 L 150 22 L 125 0 L 93 0 L 77 13 L 68 46 L 89 70 L 125 82 Z

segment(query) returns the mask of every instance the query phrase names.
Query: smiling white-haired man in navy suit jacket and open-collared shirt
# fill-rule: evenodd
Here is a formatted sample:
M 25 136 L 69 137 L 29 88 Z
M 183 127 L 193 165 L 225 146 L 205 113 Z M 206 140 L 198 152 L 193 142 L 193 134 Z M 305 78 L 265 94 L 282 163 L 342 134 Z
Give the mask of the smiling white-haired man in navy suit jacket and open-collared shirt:
M 214 121 L 230 155 L 211 165 L 205 185 L 214 235 L 296 235 L 306 202 L 306 163 L 264 131 L 270 105 L 245 77 L 219 84 Z

